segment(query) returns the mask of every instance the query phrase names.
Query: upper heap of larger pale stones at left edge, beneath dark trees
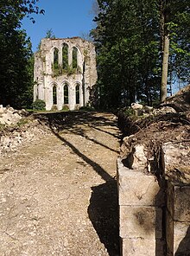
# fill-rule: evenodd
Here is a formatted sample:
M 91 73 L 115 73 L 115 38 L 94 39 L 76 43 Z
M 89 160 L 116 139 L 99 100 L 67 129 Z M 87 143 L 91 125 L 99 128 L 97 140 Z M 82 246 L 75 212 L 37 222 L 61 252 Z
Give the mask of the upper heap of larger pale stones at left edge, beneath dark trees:
M 1 125 L 15 125 L 22 117 L 28 116 L 28 112 L 24 109 L 15 110 L 11 106 L 3 107 L 0 105 L 0 124 Z

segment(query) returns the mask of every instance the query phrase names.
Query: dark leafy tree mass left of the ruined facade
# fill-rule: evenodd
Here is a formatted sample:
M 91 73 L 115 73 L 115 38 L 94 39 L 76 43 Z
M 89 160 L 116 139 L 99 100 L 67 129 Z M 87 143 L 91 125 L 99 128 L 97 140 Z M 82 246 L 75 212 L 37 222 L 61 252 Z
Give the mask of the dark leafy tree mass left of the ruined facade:
M 40 12 L 43 11 L 33 0 L 0 3 L 0 103 L 3 106 L 21 108 L 31 99 L 31 42 L 21 29 L 21 22 L 24 16 Z M 30 19 L 35 22 L 33 17 Z

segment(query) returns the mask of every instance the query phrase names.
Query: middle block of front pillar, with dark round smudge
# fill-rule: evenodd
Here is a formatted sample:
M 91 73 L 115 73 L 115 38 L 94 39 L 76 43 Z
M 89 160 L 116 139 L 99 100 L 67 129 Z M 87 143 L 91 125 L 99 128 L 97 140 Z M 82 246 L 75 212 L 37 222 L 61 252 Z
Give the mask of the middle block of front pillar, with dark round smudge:
M 161 208 L 120 206 L 120 237 L 161 239 Z

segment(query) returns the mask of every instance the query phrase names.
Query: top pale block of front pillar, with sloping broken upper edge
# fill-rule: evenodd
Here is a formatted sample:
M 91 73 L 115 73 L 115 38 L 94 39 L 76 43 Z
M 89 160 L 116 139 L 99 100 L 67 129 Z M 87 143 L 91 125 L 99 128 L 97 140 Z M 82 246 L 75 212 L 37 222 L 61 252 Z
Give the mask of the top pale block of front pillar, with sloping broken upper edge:
M 117 160 L 117 186 L 119 205 L 155 205 L 164 204 L 163 189 L 153 175 L 142 171 L 130 170 Z

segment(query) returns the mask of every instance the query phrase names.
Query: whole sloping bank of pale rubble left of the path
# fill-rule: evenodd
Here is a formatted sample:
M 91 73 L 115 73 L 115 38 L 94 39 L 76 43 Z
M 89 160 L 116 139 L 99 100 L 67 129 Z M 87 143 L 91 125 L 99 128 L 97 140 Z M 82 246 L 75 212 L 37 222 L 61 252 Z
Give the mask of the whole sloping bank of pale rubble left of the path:
M 15 152 L 19 146 L 38 140 L 48 132 L 48 127 L 27 111 L 0 106 L 0 156 Z

